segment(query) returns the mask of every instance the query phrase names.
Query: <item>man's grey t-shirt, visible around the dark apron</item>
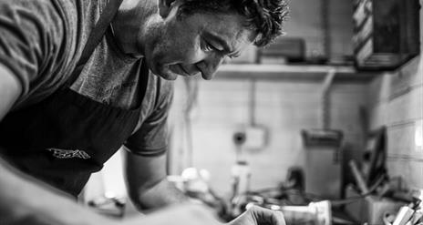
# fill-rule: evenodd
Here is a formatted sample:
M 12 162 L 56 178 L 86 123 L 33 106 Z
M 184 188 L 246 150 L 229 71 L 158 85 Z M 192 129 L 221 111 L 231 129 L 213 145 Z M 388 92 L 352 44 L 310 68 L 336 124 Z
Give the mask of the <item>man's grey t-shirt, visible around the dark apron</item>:
M 0 64 L 23 88 L 14 109 L 34 104 L 66 82 L 75 68 L 106 0 L 2 0 Z M 129 149 L 142 156 L 167 148 L 166 118 L 172 97 L 170 81 L 139 73 L 142 59 L 120 52 L 113 36 L 104 36 L 71 88 L 113 107 L 139 105 L 139 76 L 149 76 L 147 93 Z

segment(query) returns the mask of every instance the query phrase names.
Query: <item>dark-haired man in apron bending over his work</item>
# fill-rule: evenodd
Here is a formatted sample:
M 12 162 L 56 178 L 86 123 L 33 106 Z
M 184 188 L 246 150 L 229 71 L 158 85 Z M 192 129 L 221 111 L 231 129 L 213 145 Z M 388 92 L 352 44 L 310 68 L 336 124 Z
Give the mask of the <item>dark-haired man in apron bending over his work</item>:
M 279 36 L 285 15 L 283 0 L 1 1 L 0 224 L 115 224 L 64 193 L 122 145 L 139 209 L 186 202 L 165 173 L 170 80 L 211 79 Z M 169 222 L 216 223 L 185 205 L 128 224 Z M 231 223 L 284 221 L 253 208 Z

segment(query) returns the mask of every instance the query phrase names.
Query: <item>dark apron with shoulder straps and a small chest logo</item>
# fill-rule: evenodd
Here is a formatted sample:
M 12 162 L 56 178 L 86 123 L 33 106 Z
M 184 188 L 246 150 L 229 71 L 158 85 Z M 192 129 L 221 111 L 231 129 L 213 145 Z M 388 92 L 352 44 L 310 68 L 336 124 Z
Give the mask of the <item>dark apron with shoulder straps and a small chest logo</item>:
M 120 2 L 110 1 L 106 6 L 66 85 L 35 105 L 10 112 L 0 122 L 2 157 L 73 196 L 129 138 L 139 120 L 140 107 L 110 107 L 69 88 L 104 36 Z M 148 81 L 148 68 L 142 67 L 139 105 Z

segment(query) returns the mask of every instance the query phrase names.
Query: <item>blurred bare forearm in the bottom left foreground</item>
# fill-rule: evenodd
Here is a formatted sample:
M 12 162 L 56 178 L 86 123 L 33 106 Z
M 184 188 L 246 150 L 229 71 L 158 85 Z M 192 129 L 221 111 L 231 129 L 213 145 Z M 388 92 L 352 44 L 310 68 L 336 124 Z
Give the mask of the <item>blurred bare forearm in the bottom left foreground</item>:
M 0 224 L 102 224 L 114 221 L 77 205 L 0 158 Z

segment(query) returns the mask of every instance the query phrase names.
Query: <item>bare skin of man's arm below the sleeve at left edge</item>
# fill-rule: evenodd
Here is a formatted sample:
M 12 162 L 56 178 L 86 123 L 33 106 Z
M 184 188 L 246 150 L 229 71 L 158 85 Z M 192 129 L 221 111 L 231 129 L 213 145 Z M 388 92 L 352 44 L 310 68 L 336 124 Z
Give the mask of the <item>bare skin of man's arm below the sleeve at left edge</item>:
M 21 86 L 15 75 L 0 64 L 0 120 L 14 105 L 21 93 Z

